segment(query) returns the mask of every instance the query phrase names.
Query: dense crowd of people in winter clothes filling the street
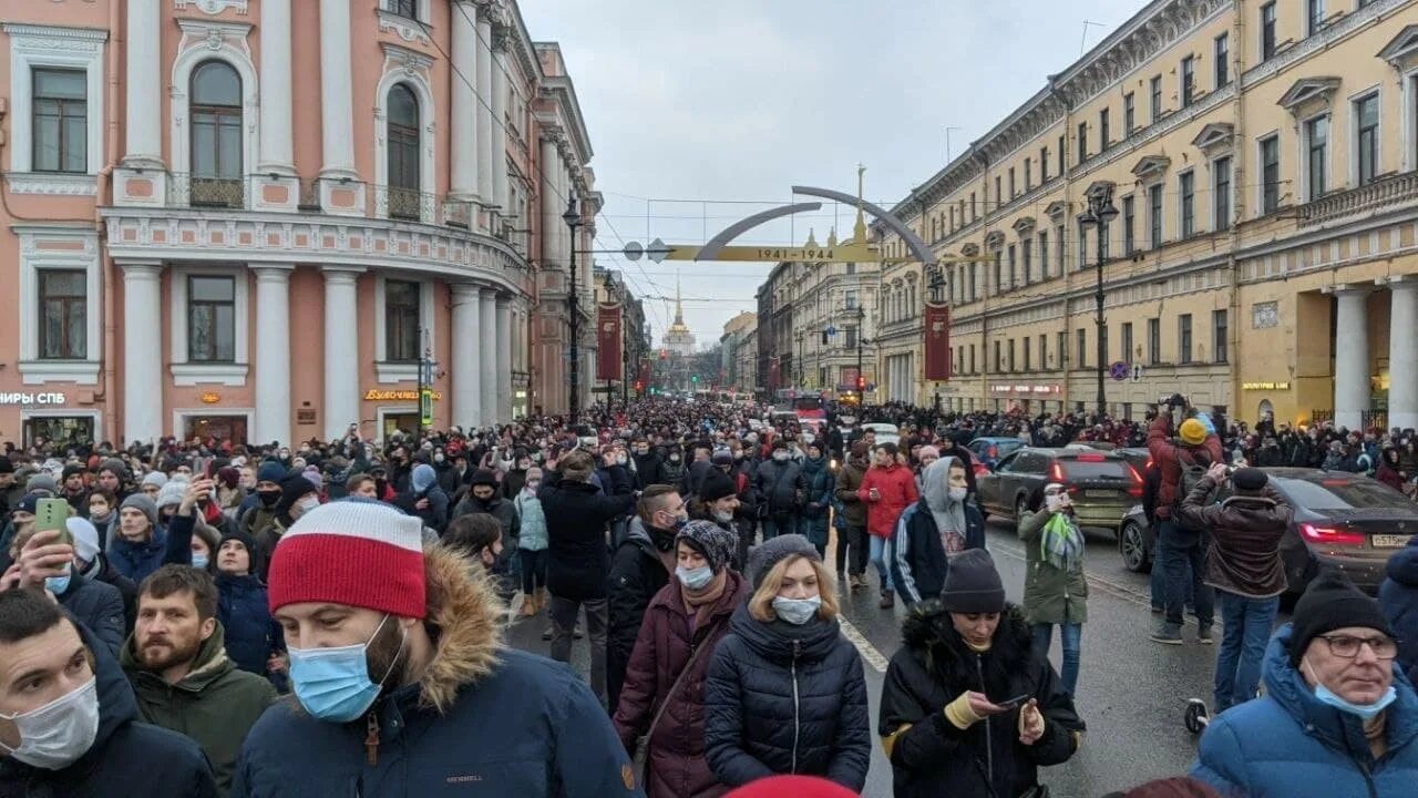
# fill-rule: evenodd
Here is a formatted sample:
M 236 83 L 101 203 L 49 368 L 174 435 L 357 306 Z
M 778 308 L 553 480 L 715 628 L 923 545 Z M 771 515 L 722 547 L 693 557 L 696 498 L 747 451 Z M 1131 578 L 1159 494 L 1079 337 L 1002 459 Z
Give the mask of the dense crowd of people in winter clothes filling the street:
M 862 430 L 868 415 L 899 442 Z M 1224 623 L 1221 714 L 1191 774 L 1127 795 L 1415 782 L 1418 547 L 1381 602 L 1326 574 L 1273 630 L 1290 508 L 1252 467 L 1405 490 L 1412 430 L 1252 432 L 1181 396 L 1144 422 L 766 416 L 647 399 L 379 442 L 7 447 L 0 797 L 712 798 L 788 794 L 761 791 L 791 777 L 817 781 L 778 789 L 854 795 L 876 744 L 898 797 L 1048 795 L 1041 768 L 1086 733 L 1083 532 L 1064 486 L 1039 486 L 1007 601 L 978 436 L 1149 447 L 1153 640 L 1181 645 L 1187 606 L 1201 643 Z M 58 524 L 41 523 L 51 500 Z M 875 721 L 841 625 L 862 589 L 888 618 L 905 605 Z M 512 622 L 539 623 L 550 656 L 512 649 Z M 557 665 L 577 640 L 587 679 Z

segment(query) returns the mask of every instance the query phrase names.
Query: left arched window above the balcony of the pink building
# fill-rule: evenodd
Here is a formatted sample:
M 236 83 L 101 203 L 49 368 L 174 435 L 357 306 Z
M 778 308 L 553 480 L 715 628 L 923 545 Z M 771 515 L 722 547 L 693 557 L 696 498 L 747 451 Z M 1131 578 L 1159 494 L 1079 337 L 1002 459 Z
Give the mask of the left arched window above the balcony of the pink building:
M 191 203 L 241 206 L 241 77 L 224 61 L 191 71 Z

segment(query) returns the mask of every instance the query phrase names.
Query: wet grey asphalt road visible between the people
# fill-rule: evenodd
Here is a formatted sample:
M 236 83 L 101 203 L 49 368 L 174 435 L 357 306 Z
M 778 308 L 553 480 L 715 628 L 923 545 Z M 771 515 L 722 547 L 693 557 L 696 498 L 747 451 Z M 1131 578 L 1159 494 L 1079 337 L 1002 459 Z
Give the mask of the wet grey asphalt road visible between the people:
M 991 520 L 988 548 L 1004 578 L 1010 601 L 1024 594 L 1024 548 L 1012 525 Z M 828 552 L 831 558 L 831 551 Z M 1197 740 L 1183 727 L 1190 697 L 1211 697 L 1215 646 L 1195 642 L 1195 626 L 1183 632 L 1185 645 L 1163 646 L 1147 639 L 1154 616 L 1149 611 L 1147 576 L 1129 572 L 1112 534 L 1088 532 L 1085 569 L 1089 576 L 1088 623 L 1083 625 L 1082 666 L 1076 704 L 1088 723 L 1082 750 L 1066 764 L 1041 770 L 1041 781 L 1058 798 L 1098 798 L 1153 778 L 1184 774 L 1195 755 Z M 872 726 L 886 660 L 900 645 L 900 602 L 878 608 L 875 571 L 868 568 L 868 588 L 844 596 L 844 632 L 864 652 Z M 1190 621 L 1190 619 L 1188 619 Z M 1288 621 L 1282 612 L 1280 623 Z M 546 615 L 515 622 L 510 645 L 546 655 L 542 640 Z M 855 633 L 854 633 L 855 632 Z M 1219 625 L 1215 632 L 1221 638 Z M 1059 643 L 1051 659 L 1059 667 Z M 584 640 L 573 649 L 573 667 L 588 669 Z M 872 747 L 868 798 L 891 798 L 891 764 L 881 745 Z

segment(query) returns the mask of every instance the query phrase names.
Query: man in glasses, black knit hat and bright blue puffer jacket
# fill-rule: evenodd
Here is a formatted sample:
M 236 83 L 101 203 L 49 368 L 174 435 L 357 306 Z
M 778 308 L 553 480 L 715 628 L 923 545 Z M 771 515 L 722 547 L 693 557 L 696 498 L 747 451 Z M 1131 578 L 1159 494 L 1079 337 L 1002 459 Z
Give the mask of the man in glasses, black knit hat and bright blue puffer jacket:
M 1212 720 L 1191 777 L 1221 795 L 1411 795 L 1418 694 L 1378 602 L 1322 571 L 1265 652 L 1265 692 Z

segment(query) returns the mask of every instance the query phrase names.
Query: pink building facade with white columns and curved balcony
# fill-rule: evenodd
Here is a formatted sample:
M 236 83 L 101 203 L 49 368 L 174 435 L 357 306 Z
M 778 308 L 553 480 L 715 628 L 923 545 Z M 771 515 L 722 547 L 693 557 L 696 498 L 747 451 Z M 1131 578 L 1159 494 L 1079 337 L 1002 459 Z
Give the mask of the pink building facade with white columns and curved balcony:
M 601 203 L 515 4 L 11 6 L 0 440 L 383 439 L 425 356 L 438 427 L 566 409 Z

